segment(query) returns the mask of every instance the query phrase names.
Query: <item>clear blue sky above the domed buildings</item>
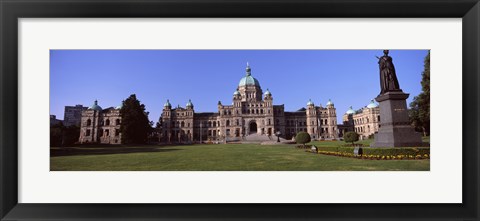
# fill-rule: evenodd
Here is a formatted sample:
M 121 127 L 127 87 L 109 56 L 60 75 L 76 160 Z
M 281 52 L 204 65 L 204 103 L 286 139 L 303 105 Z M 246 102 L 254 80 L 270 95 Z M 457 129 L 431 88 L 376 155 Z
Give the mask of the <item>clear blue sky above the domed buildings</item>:
M 428 50 L 391 50 L 400 87 L 421 92 L 423 60 Z M 325 106 L 332 99 L 338 122 L 349 106 L 366 106 L 380 91 L 378 60 L 382 50 L 51 50 L 50 114 L 63 119 L 64 107 L 118 106 L 130 94 L 145 104 L 157 122 L 163 104 L 196 112 L 215 112 L 232 94 L 250 63 L 252 76 L 275 104 L 294 111 L 312 99 Z

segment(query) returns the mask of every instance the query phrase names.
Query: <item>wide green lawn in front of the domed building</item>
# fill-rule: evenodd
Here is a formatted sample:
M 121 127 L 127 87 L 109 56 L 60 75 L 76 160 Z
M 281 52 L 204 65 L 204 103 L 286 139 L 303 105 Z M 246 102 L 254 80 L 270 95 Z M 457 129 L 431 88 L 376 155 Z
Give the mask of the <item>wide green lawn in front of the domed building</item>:
M 51 155 L 52 171 L 430 170 L 430 160 L 362 160 L 308 153 L 294 145 L 81 146 L 51 148 Z

